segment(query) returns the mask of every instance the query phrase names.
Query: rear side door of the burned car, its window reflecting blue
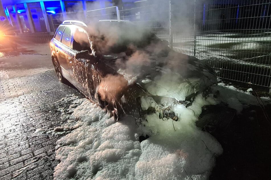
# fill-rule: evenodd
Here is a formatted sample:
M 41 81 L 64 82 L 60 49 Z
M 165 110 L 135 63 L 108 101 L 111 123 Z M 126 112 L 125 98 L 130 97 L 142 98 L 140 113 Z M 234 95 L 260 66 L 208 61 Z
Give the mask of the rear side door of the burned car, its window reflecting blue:
M 70 77 L 70 59 L 75 56 L 75 53 L 71 49 L 72 41 L 72 27 L 66 26 L 61 36 L 61 47 L 58 48 L 58 61 L 60 63 L 62 73 L 64 76 Z M 71 80 L 71 79 L 69 79 Z

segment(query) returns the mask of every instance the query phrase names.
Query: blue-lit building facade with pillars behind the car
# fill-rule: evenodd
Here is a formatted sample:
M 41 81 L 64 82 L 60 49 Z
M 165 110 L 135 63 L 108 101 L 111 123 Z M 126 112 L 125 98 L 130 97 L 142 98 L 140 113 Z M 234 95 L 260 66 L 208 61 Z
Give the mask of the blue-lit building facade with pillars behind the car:
M 2 0 L 2 5 L 10 24 L 20 33 L 45 33 L 54 32 L 60 21 L 67 17 L 80 18 L 74 17 L 73 13 L 82 14 L 82 17 L 86 19 L 87 11 L 105 9 L 115 5 L 121 6 L 121 8 L 129 7 L 133 5 L 133 0 Z M 101 10 L 97 13 L 109 12 Z

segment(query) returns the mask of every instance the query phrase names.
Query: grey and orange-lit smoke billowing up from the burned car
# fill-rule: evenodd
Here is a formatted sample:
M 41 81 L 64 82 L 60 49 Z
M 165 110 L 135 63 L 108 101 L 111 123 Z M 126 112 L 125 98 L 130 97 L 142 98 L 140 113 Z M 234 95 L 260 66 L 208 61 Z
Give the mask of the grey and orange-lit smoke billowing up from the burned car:
M 136 81 L 138 74 L 143 71 L 148 71 L 151 68 L 159 67 L 160 72 L 162 69 L 170 69 L 173 72 L 181 74 L 183 77 L 190 75 L 191 67 L 189 64 L 190 57 L 184 54 L 172 51 L 168 47 L 167 41 L 161 41 L 158 37 L 162 37 L 164 40 L 168 40 L 170 45 L 180 43 L 183 36 L 188 34 L 194 34 L 194 29 L 190 25 L 191 19 L 191 2 L 189 1 L 177 1 L 172 0 L 172 13 L 171 24 L 169 15 L 169 1 L 164 0 L 148 0 L 135 3 L 136 11 L 122 11 L 126 17 L 125 20 L 131 20 L 135 23 L 118 23 L 118 22 L 98 22 L 100 19 L 116 19 L 116 14 L 113 10 L 98 10 L 87 12 L 87 33 L 89 39 L 86 40 L 83 33 L 78 33 L 76 41 L 80 45 L 89 44 L 92 54 L 100 59 L 103 55 L 115 54 L 118 56 L 117 60 L 112 60 L 114 66 L 119 67 L 129 74 L 130 78 L 119 76 L 106 76 L 102 79 L 102 83 L 99 87 L 99 93 L 103 100 L 112 100 L 112 97 L 108 97 L 108 92 L 112 92 L 113 96 L 119 96 L 120 90 L 127 88 L 127 82 Z M 100 3 L 91 3 L 92 9 L 100 9 Z M 90 7 L 88 7 L 90 8 Z M 78 9 L 76 7 L 76 9 Z M 111 17 L 103 16 L 106 11 L 107 14 L 111 14 Z M 72 17 L 70 17 L 70 15 Z M 82 20 L 85 19 L 82 12 L 67 14 L 68 18 Z M 129 16 L 130 15 L 130 16 Z M 175 38 L 174 41 L 170 40 L 170 28 L 172 26 L 172 33 L 180 39 Z M 150 33 L 152 31 L 152 34 Z M 156 34 L 156 35 L 154 35 Z M 162 36 L 163 35 L 163 36 Z M 174 36 L 173 35 L 173 36 Z M 158 70 L 159 71 L 159 70 Z M 164 71 L 164 74 L 159 74 L 153 79 L 162 81 L 171 81 L 172 75 L 168 76 Z M 180 76 L 176 75 L 175 79 Z M 115 79 L 114 79 L 115 78 Z M 114 84 L 115 83 L 115 84 Z M 114 90 L 115 88 L 115 90 Z

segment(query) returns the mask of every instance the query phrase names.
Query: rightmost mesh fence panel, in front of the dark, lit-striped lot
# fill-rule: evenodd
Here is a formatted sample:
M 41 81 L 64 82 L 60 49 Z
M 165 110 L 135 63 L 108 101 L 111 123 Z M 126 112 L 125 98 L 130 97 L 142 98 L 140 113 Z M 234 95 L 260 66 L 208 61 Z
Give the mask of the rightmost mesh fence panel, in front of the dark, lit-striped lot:
M 218 77 L 270 87 L 270 3 L 196 0 L 196 57 Z

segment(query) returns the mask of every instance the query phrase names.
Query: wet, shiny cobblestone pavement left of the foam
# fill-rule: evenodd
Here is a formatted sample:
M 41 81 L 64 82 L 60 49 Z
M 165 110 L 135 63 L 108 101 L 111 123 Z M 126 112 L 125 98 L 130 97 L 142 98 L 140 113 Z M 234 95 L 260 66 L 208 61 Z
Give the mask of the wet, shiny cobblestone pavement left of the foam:
M 78 90 L 55 72 L 0 80 L 0 179 L 52 179 L 60 135 L 35 133 L 60 124 L 55 101 Z

